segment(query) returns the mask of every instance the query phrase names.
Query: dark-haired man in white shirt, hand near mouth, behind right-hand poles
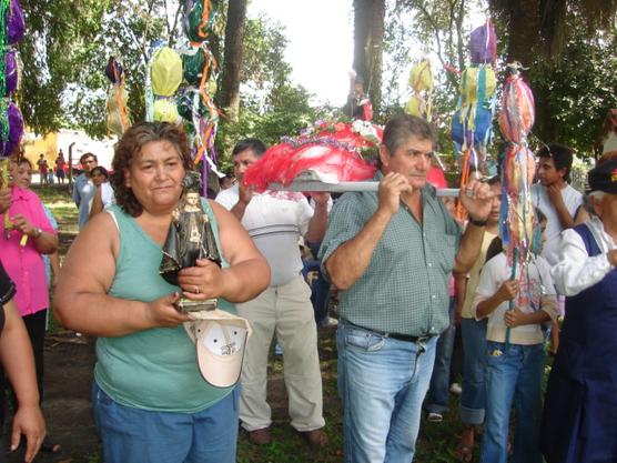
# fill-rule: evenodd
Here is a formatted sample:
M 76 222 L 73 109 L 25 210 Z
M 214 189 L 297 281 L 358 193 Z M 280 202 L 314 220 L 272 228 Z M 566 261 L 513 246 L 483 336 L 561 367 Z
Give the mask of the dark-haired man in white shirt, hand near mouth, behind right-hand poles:
M 560 233 L 583 223 L 588 214 L 583 205 L 583 194 L 568 184 L 572 169 L 572 150 L 562 144 L 545 144 L 538 150 L 539 183 L 532 185 L 532 202 L 548 220 L 542 255 L 550 266 L 559 261 Z

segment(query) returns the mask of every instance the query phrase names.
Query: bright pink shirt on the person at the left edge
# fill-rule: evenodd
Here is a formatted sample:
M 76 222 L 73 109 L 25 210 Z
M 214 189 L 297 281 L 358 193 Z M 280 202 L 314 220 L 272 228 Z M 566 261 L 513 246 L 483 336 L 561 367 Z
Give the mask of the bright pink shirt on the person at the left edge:
M 39 197 L 31 190 L 13 187 L 9 217 L 22 214 L 33 227 L 55 234 L 43 210 Z M 43 259 L 34 248 L 34 240 L 28 239 L 21 246 L 21 232 L 12 230 L 9 239 L 4 236 L 4 219 L 0 217 L 0 261 L 16 284 L 16 304 L 20 314 L 30 315 L 49 308 L 49 290 L 47 285 Z

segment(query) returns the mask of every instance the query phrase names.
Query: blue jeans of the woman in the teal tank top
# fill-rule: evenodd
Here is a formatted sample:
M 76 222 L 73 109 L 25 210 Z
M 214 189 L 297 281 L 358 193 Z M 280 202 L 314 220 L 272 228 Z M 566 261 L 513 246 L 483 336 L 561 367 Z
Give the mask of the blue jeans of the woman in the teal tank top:
M 121 405 L 94 381 L 94 421 L 105 463 L 234 463 L 240 387 L 196 413 Z

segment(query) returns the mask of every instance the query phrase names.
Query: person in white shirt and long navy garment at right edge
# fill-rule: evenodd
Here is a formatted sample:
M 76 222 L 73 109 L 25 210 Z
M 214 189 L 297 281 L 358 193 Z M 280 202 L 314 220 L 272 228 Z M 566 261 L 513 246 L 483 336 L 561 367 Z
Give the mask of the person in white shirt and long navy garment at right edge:
M 547 463 L 617 461 L 617 159 L 588 181 L 593 217 L 564 231 L 553 269 L 566 316 L 544 406 Z

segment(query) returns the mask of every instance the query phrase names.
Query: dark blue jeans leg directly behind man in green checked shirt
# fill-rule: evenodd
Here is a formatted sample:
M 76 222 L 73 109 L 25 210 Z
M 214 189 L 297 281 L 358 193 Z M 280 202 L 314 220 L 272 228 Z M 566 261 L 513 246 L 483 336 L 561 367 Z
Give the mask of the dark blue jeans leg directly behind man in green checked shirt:
M 454 308 L 456 298 L 449 298 L 449 326 L 439 335 L 435 353 L 435 366 L 424 404 L 428 413 L 444 413 L 449 409 L 449 363 L 454 349 Z

